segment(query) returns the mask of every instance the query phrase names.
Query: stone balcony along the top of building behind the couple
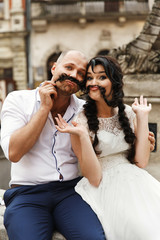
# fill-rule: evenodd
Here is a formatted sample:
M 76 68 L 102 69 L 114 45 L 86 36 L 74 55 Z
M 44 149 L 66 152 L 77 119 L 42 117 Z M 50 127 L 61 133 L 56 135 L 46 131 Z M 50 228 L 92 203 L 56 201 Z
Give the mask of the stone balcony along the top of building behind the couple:
M 36 11 L 36 8 L 38 11 Z M 34 10 L 33 10 L 34 9 Z M 95 19 L 113 19 L 120 16 L 144 19 L 149 12 L 148 2 L 128 1 L 75 1 L 75 0 L 32 0 L 32 18 L 53 21 L 77 20 L 85 17 Z

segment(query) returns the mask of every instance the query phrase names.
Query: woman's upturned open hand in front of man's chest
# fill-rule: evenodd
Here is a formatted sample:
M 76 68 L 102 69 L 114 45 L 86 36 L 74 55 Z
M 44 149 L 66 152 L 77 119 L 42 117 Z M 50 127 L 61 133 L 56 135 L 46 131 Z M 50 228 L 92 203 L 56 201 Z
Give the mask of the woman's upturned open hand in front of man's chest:
M 72 125 L 69 125 L 60 114 L 58 114 L 58 117 L 55 117 L 55 119 L 57 122 L 56 128 L 61 133 L 70 133 L 78 136 L 88 134 L 87 129 L 83 125 L 75 121 L 72 121 Z

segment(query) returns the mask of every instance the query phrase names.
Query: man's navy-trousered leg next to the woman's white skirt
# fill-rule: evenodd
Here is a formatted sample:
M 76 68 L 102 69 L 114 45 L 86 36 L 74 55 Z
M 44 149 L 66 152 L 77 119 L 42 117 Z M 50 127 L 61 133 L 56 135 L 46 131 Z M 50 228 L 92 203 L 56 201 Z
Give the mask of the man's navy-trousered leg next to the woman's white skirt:
M 76 192 L 57 205 L 54 222 L 67 240 L 106 239 L 97 215 Z

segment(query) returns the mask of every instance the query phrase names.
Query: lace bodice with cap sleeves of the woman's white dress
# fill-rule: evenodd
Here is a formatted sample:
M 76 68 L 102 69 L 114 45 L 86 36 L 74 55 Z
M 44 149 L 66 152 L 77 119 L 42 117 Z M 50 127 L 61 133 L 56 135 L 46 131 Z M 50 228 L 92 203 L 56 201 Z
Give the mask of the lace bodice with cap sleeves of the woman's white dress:
M 129 118 L 131 128 L 134 130 L 133 119 L 135 118 L 135 113 L 132 111 L 130 106 L 125 106 L 126 115 Z M 99 144 L 97 145 L 96 150 L 101 152 L 99 158 L 126 152 L 129 145 L 124 139 L 124 133 L 119 123 L 118 114 L 110 118 L 98 118 L 98 120 L 99 130 L 97 132 L 97 136 Z M 88 129 L 87 119 L 83 111 L 78 114 L 75 121 L 85 125 Z M 94 133 L 89 131 L 89 129 L 88 132 L 93 139 Z

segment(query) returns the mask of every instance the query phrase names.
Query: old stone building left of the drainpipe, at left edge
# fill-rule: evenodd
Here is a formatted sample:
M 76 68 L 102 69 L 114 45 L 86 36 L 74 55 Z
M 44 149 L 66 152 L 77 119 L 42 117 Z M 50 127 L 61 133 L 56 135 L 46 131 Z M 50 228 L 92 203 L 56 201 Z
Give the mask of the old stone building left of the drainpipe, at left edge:
M 2 101 L 27 86 L 25 1 L 0 1 L 0 90 Z

